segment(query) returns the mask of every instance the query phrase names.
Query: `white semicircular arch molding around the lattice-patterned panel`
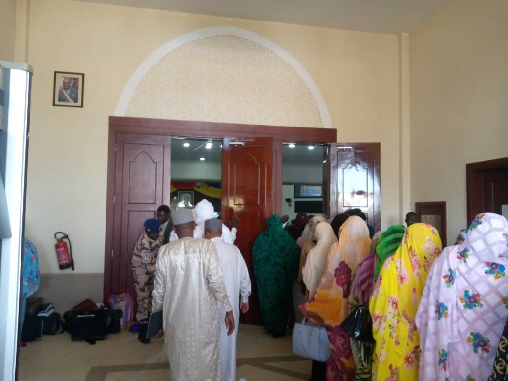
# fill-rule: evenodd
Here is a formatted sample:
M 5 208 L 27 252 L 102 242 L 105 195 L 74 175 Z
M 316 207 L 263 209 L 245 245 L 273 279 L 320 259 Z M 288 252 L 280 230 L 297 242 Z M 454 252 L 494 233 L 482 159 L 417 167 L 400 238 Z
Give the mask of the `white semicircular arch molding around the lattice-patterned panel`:
M 133 73 L 129 81 L 125 84 L 123 91 L 120 95 L 120 99 L 116 105 L 115 115 L 116 116 L 125 116 L 125 112 L 129 102 L 136 90 L 137 85 L 143 79 L 145 74 L 165 55 L 170 53 L 171 51 L 195 40 L 199 40 L 206 37 L 212 36 L 223 36 L 223 35 L 232 35 L 236 37 L 240 37 L 246 40 L 250 40 L 259 45 L 266 47 L 271 50 L 275 54 L 277 54 L 280 58 L 282 58 L 288 65 L 301 77 L 303 82 L 307 85 L 310 90 L 312 97 L 317 105 L 317 108 L 320 111 L 321 119 L 323 121 L 323 126 L 325 128 L 333 128 L 332 120 L 330 118 L 330 113 L 328 112 L 328 108 L 326 107 L 325 100 L 317 88 L 316 83 L 309 75 L 309 73 L 305 70 L 305 68 L 301 65 L 298 60 L 293 57 L 288 51 L 284 50 L 279 45 L 275 44 L 273 41 L 268 40 L 267 38 L 258 35 L 257 33 L 253 33 L 252 31 L 237 28 L 234 26 L 214 26 L 209 28 L 197 29 L 187 34 L 178 36 L 173 40 L 167 42 L 162 45 L 160 48 L 156 49 L 153 53 L 151 53 L 136 69 Z

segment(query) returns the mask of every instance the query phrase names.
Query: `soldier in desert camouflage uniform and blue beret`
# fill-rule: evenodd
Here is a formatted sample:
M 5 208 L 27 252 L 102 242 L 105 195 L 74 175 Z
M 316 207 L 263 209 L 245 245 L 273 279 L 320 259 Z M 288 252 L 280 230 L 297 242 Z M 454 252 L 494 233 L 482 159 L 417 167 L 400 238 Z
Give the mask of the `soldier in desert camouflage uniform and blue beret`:
M 138 339 L 144 344 L 150 342 L 146 338 L 148 329 L 148 313 L 152 310 L 152 291 L 155 278 L 158 249 L 164 239 L 164 230 L 155 218 L 145 221 L 145 231 L 141 234 L 132 256 L 132 271 L 134 273 L 134 288 L 138 302 L 136 320 L 139 324 Z

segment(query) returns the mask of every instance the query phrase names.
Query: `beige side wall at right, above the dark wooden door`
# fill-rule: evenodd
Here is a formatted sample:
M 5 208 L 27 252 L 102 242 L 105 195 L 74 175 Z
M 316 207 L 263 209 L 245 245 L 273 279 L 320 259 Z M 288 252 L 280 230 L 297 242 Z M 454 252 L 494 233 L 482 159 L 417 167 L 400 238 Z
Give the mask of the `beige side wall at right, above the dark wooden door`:
M 410 36 L 411 201 L 448 201 L 449 243 L 468 224 L 466 164 L 508 156 L 507 15 L 453 0 Z

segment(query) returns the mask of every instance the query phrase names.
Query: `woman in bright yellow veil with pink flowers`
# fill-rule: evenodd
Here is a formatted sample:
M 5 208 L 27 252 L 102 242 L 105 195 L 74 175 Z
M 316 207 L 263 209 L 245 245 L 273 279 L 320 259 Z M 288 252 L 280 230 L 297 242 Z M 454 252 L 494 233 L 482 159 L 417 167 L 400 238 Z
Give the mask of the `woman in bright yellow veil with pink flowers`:
M 373 379 L 418 380 L 420 336 L 415 316 L 430 266 L 440 253 L 437 230 L 413 224 L 385 261 L 369 303 L 376 340 Z

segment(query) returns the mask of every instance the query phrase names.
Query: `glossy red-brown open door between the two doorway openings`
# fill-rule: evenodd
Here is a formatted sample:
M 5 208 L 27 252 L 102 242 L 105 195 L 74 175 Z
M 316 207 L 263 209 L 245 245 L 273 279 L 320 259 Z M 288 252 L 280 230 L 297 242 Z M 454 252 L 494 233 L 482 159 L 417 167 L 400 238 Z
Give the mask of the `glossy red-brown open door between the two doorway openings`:
M 272 214 L 272 146 L 272 138 L 225 138 L 223 143 L 221 217 L 229 221 L 236 214 L 240 219 L 235 244 L 247 263 L 252 283 L 250 309 L 240 319 L 245 324 L 263 324 L 252 246 L 266 230 L 266 220 Z

